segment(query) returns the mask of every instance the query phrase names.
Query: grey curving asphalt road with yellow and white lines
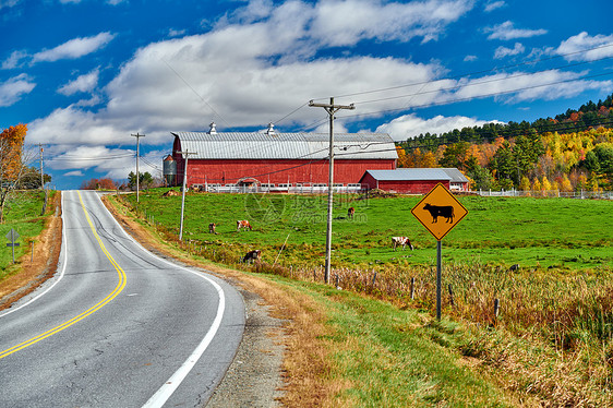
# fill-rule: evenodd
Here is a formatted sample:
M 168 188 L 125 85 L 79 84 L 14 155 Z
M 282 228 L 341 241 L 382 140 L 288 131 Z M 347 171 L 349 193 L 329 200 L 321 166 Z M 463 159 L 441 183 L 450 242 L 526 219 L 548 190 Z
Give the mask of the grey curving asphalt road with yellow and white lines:
M 223 280 L 134 242 L 91 191 L 62 194 L 53 279 L 0 312 L 0 407 L 200 407 L 240 344 Z

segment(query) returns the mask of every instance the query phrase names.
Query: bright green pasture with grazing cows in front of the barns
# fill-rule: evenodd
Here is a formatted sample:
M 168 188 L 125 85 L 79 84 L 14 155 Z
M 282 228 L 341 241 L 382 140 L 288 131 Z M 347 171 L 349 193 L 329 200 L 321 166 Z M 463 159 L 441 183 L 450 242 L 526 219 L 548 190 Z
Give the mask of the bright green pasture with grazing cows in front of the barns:
M 140 212 L 151 223 L 179 232 L 181 196 L 167 190 L 141 193 Z M 135 205 L 135 195 L 125 200 Z M 432 265 L 436 241 L 412 216 L 421 196 L 335 196 L 333 264 L 363 268 Z M 568 269 L 613 265 L 613 202 L 577 199 L 460 196 L 469 214 L 443 239 L 445 263 L 479 262 L 507 267 Z M 353 219 L 347 208 L 356 208 Z M 188 193 L 183 238 L 223 245 L 239 256 L 263 250 L 273 262 L 283 243 L 280 263 L 321 265 L 324 260 L 327 196 L 287 194 Z M 236 230 L 248 219 L 253 231 Z M 217 224 L 217 235 L 208 224 Z M 289 236 L 289 237 L 288 237 Z M 393 251 L 390 237 L 407 236 L 416 247 Z

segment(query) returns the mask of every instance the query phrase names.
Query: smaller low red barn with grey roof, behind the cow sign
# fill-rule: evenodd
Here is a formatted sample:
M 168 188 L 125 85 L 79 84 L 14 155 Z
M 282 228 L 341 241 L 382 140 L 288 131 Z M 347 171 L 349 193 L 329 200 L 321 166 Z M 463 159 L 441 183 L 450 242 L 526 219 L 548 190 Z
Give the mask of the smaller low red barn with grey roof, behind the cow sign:
M 456 181 L 460 176 L 468 184 L 468 179 L 457 169 L 438 168 L 368 170 L 360 179 L 360 182 L 366 184 L 369 189 L 380 189 L 401 194 L 425 194 L 437 183 L 442 183 L 447 189 L 450 189 L 453 181 L 462 183 L 459 180 Z

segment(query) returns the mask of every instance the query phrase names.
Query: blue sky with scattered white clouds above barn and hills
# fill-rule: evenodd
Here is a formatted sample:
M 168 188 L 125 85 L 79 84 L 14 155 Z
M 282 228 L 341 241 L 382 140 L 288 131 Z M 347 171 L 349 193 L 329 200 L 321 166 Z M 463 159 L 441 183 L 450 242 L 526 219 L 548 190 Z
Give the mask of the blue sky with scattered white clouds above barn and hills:
M 171 131 L 406 140 L 554 117 L 613 93 L 613 3 L 0 0 L 0 127 L 58 189 L 159 175 Z M 33 164 L 38 163 L 33 161 Z

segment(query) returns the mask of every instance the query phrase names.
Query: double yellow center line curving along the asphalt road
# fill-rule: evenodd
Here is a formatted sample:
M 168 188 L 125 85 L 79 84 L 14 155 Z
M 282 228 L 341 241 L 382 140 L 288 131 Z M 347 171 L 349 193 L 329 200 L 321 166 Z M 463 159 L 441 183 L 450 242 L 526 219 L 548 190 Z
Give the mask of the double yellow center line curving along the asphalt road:
M 64 328 L 68 328 L 70 326 L 72 326 L 76 322 L 92 315 L 94 312 L 100 310 L 104 305 L 106 305 L 111 300 L 113 300 L 119 293 L 121 293 L 121 291 L 125 287 L 125 272 L 123 272 L 121 266 L 119 266 L 119 264 L 112 259 L 110 253 L 105 248 L 105 244 L 103 243 L 103 240 L 100 239 L 100 237 L 96 232 L 96 229 L 94 228 L 94 223 L 92 223 L 92 219 L 89 218 L 89 215 L 87 214 L 87 209 L 85 209 L 85 204 L 83 203 L 83 197 L 81 196 L 81 192 L 77 192 L 77 194 L 79 194 L 79 201 L 81 202 L 81 207 L 83 208 L 83 212 L 85 213 L 85 218 L 87 219 L 87 223 L 89 224 L 89 228 L 92 229 L 92 232 L 94 232 L 94 237 L 96 237 L 96 240 L 98 241 L 98 244 L 100 245 L 103 252 L 107 255 L 110 263 L 115 266 L 115 268 L 117 271 L 117 274 L 119 275 L 119 283 L 117 284 L 115 289 L 105 299 L 100 300 L 98 303 L 96 303 L 92 308 L 87 309 L 85 312 L 79 314 L 77 316 L 72 317 L 68 322 L 64 322 L 64 323 L 62 323 L 62 324 L 60 324 L 60 325 L 58 325 L 58 326 L 56 326 L 51 329 L 48 329 L 47 332 L 45 332 L 43 334 L 39 334 L 36 337 L 31 338 L 29 340 L 20 343 L 19 345 L 16 345 L 14 347 L 11 347 L 11 348 L 9 348 L 4 351 L 0 351 L 0 359 L 3 359 L 4 357 L 10 356 L 15 351 L 19 351 L 19 350 L 22 350 L 26 347 L 29 347 L 29 346 L 43 340 L 44 338 L 52 336 L 56 333 L 59 333 L 59 332 L 63 331 Z

